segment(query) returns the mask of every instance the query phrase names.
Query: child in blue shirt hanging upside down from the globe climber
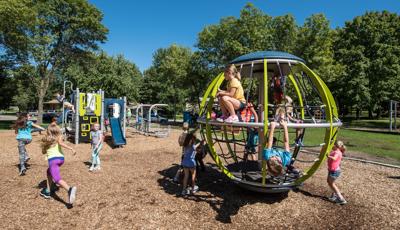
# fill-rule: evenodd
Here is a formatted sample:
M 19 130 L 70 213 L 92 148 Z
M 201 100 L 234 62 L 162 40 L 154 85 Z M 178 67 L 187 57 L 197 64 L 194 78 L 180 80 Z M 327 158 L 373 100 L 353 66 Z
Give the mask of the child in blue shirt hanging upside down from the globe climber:
M 289 132 L 287 122 L 285 121 L 285 111 L 282 109 L 281 112 L 279 112 L 279 115 L 280 116 L 277 121 L 271 122 L 268 135 L 268 145 L 267 148 L 264 149 L 263 157 L 267 161 L 268 171 L 273 176 L 284 174 L 285 168 L 288 168 L 292 172 L 298 174 L 299 171 L 291 166 L 292 154 L 290 153 Z M 278 124 L 281 125 L 284 130 L 284 151 L 272 148 L 274 142 L 274 131 Z

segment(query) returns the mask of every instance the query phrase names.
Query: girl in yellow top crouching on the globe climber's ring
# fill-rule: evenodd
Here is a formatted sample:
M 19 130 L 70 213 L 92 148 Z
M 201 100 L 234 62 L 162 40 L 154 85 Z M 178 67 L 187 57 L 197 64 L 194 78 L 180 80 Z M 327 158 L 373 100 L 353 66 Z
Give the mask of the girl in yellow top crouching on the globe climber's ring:
M 240 73 L 232 64 L 225 69 L 224 77 L 228 81 L 228 86 L 226 91 L 219 90 L 216 94 L 223 113 L 217 121 L 238 122 L 239 118 L 235 110 L 241 110 L 246 106 L 243 87 L 240 83 Z

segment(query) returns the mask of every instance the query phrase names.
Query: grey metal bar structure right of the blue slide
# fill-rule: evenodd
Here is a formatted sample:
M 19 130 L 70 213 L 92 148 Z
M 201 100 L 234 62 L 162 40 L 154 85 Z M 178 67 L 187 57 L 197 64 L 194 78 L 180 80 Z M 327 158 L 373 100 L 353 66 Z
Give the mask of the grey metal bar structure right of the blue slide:
M 166 118 L 159 119 L 158 109 L 168 107 L 167 104 L 138 104 L 134 113 L 133 124 L 136 132 L 154 137 L 168 137 L 171 131 Z M 155 124 L 158 122 L 158 124 Z M 164 127 L 163 127 L 164 126 Z M 166 126 L 166 127 L 165 127 Z

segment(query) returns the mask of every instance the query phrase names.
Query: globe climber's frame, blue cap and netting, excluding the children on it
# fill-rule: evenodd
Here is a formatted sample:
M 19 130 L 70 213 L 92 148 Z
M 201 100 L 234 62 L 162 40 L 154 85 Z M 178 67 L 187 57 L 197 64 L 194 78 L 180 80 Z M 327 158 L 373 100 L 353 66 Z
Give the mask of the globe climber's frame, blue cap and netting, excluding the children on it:
M 325 83 L 305 65 L 305 61 L 294 55 L 263 51 L 240 56 L 234 59 L 234 64 L 242 76 L 246 101 L 253 102 L 259 122 L 243 121 L 242 111 L 237 111 L 239 122 L 225 123 L 214 120 L 214 111 L 218 111 L 216 93 L 224 82 L 224 73 L 220 73 L 207 88 L 200 106 L 201 138 L 205 140 L 211 151 L 211 157 L 219 170 L 239 186 L 257 192 L 279 193 L 287 192 L 301 186 L 321 166 L 326 154 L 331 150 L 342 125 L 338 118 L 336 103 Z M 276 81 L 280 81 L 280 97 L 293 98 L 290 103 L 275 101 Z M 282 100 L 282 101 L 284 101 Z M 292 120 L 288 120 L 289 131 L 301 131 L 292 146 L 292 163 L 304 146 L 304 136 L 307 129 L 324 129 L 325 137 L 319 147 L 318 158 L 311 161 L 312 165 L 302 169 L 301 174 L 287 171 L 284 175 L 274 177 L 267 173 L 266 161 L 262 158 L 262 150 L 266 147 L 268 128 L 278 108 L 284 108 Z M 258 143 L 254 147 L 258 161 L 249 161 L 248 136 L 251 130 L 258 133 Z M 278 131 L 281 132 L 281 131 Z M 280 133 L 275 148 L 282 143 Z M 293 143 L 293 142 L 291 142 Z

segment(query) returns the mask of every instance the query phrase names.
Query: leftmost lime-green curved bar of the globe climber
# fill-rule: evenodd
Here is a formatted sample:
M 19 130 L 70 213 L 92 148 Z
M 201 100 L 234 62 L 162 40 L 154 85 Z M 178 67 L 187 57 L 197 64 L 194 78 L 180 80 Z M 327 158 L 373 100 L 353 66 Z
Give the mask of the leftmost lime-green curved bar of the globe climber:
M 213 86 L 209 87 L 207 89 L 208 94 L 207 94 L 207 98 L 210 101 L 214 101 L 215 98 L 215 94 L 217 93 L 217 89 L 218 87 L 221 85 L 222 81 L 224 80 L 224 75 L 219 74 L 214 80 L 213 80 Z M 207 92 L 206 92 L 207 93 Z M 210 94 L 211 93 L 211 94 Z M 203 105 L 204 106 L 204 105 Z M 212 106 L 213 103 L 208 103 L 208 107 L 207 107 L 207 119 L 206 119 L 206 138 L 207 138 L 207 143 L 208 146 L 210 147 L 210 152 L 211 155 L 215 161 L 215 164 L 217 164 L 218 168 L 221 170 L 222 173 L 224 173 L 227 177 L 229 178 L 233 178 L 234 176 L 232 175 L 231 172 L 229 172 L 229 170 L 227 168 L 225 168 L 225 166 L 222 164 L 221 159 L 219 158 L 217 152 L 215 151 L 214 145 L 213 143 L 213 139 L 211 136 L 211 125 L 209 124 L 209 120 L 210 120 L 210 114 L 212 111 Z

